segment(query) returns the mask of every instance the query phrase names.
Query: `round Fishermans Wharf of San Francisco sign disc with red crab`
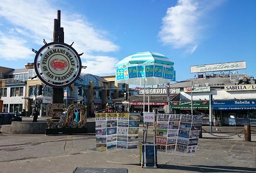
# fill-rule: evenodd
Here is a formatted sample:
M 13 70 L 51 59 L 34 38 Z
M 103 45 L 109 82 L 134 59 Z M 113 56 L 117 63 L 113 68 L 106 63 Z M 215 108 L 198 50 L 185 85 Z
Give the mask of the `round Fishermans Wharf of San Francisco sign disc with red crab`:
M 81 59 L 66 43 L 52 42 L 40 48 L 34 60 L 37 77 L 46 85 L 63 88 L 76 81 L 81 72 Z

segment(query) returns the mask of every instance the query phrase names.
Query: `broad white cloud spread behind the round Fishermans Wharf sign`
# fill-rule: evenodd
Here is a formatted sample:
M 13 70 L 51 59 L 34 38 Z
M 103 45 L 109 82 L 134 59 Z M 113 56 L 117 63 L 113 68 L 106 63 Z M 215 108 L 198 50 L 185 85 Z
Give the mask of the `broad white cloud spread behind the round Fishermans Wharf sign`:
M 31 48 L 39 49 L 44 45 L 43 39 L 52 42 L 53 22 L 54 18 L 57 18 L 58 9 L 56 9 L 56 4 L 50 3 L 56 2 L 10 0 L 0 3 L 1 23 L 5 26 L 5 28 L 2 26 L 0 31 L 3 33 L 0 34 L 1 50 L 17 46 L 12 50 L 12 53 L 2 54 L 0 58 L 32 58 L 34 53 L 32 53 Z M 91 70 L 90 73 L 102 72 L 95 68 L 95 63 L 112 62 L 112 64 L 109 63 L 111 67 L 107 67 L 108 70 L 112 71 L 113 62 L 118 60 L 113 57 L 97 56 L 97 54 L 118 51 L 119 46 L 108 39 L 107 31 L 97 30 L 86 20 L 85 16 L 76 14 L 70 9 L 64 9 L 66 7 L 68 7 L 67 4 L 65 7 L 63 6 L 62 11 L 64 12 L 61 12 L 61 27 L 64 28 L 65 42 L 71 44 L 74 41 L 73 47 L 76 51 L 88 55 L 81 58 L 84 57 L 82 62 L 87 64 L 88 69 Z M 93 59 L 91 59 L 92 57 Z M 90 67 L 90 65 L 94 66 Z M 105 71 L 108 72 L 108 70 Z

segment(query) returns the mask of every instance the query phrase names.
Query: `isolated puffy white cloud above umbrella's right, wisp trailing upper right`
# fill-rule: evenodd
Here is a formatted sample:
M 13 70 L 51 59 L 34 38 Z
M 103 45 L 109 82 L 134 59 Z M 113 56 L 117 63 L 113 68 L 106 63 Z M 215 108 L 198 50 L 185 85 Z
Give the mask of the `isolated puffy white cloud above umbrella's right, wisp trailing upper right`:
M 162 18 L 160 40 L 193 54 L 205 34 L 204 16 L 220 4 L 221 1 L 179 0 Z

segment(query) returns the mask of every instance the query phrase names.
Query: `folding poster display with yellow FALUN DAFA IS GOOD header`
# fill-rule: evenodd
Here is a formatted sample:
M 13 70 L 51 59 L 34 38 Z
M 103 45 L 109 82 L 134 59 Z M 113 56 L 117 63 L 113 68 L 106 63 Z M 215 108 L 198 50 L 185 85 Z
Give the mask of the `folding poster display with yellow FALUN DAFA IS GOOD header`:
M 140 113 L 96 113 L 96 151 L 137 149 Z

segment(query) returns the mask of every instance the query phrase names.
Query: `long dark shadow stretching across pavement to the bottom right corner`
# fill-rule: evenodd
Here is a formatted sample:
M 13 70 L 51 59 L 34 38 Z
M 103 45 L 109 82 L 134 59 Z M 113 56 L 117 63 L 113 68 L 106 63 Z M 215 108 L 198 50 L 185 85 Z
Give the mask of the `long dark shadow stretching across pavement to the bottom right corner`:
M 140 164 L 125 164 L 125 165 L 135 165 L 140 167 Z M 248 167 L 206 166 L 206 165 L 177 166 L 177 165 L 158 164 L 157 168 L 184 170 L 184 171 L 197 171 L 197 172 L 255 172 L 256 171 L 256 168 L 248 168 Z M 144 169 L 148 169 L 148 168 L 144 168 Z M 150 168 L 150 169 L 155 169 L 155 168 Z

